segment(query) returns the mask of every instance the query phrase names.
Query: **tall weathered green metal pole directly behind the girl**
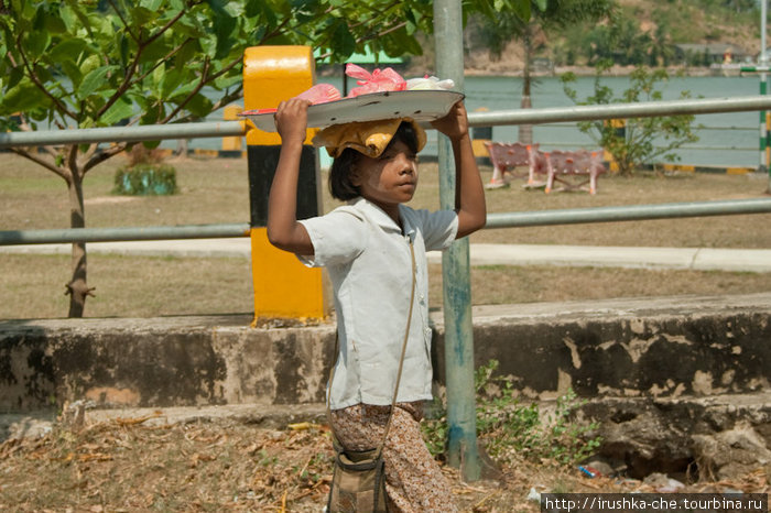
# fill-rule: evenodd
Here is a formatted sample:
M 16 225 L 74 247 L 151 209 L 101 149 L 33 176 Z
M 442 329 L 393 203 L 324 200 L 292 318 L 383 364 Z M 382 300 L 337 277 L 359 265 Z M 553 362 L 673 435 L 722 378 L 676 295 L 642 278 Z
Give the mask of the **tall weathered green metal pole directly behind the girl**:
M 436 73 L 463 90 L 463 11 L 459 0 L 434 2 Z M 444 209 L 455 208 L 455 163 L 449 140 L 438 135 L 439 196 Z M 481 468 L 477 449 L 474 388 L 474 325 L 468 239 L 442 255 L 444 282 L 445 369 L 447 382 L 448 462 L 466 481 L 477 481 Z

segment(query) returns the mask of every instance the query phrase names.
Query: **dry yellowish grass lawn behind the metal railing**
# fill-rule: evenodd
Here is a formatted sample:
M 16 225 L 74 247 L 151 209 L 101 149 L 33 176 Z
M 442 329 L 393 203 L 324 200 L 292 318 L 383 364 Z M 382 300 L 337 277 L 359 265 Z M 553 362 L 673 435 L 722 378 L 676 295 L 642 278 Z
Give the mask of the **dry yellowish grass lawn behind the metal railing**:
M 171 162 L 180 194 L 124 197 L 110 194 L 122 157 L 96 167 L 86 177 L 89 227 L 247 222 L 249 189 L 246 160 L 187 159 Z M 421 186 L 412 206 L 438 208 L 436 164 L 421 166 Z M 491 170 L 482 167 L 482 179 Z M 324 205 L 337 204 L 326 192 Z M 595 196 L 510 188 L 487 193 L 488 211 L 526 211 L 647 203 L 702 201 L 761 197 L 765 176 L 641 174 L 604 176 Z M 0 230 L 67 228 L 69 208 L 64 182 L 9 153 L 0 153 Z M 771 215 L 575 225 L 482 230 L 471 243 L 585 244 L 637 247 L 771 248 Z M 89 317 L 144 317 L 249 313 L 251 264 L 241 259 L 177 259 L 89 254 Z M 65 255 L 0 254 L 0 318 L 66 315 Z M 141 276 L 141 279 L 137 279 Z M 598 299 L 611 297 L 738 294 L 771 290 L 771 274 L 627 270 L 601 268 L 479 266 L 471 270 L 475 304 Z M 442 275 L 431 265 L 431 301 L 441 303 Z

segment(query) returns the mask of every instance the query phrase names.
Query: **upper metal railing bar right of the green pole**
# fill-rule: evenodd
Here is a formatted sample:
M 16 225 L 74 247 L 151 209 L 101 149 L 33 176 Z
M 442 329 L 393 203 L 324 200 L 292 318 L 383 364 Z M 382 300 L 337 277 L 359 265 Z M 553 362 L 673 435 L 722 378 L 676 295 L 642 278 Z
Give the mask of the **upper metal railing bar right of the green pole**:
M 612 103 L 547 109 L 497 110 L 469 112 L 471 127 L 498 124 L 539 124 L 553 121 L 588 121 L 593 119 L 651 118 L 655 116 L 742 112 L 771 109 L 771 96 L 742 96 L 732 98 L 685 99 L 644 101 L 639 103 Z

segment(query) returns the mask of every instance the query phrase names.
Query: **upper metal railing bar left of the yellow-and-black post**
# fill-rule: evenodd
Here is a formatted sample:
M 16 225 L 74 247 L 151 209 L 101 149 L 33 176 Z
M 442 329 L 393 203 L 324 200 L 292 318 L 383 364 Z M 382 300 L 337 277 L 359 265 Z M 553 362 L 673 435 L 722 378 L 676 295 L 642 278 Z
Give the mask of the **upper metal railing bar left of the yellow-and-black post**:
M 206 121 L 202 123 L 4 132 L 0 133 L 0 148 L 222 138 L 227 135 L 239 137 L 246 132 L 246 121 Z

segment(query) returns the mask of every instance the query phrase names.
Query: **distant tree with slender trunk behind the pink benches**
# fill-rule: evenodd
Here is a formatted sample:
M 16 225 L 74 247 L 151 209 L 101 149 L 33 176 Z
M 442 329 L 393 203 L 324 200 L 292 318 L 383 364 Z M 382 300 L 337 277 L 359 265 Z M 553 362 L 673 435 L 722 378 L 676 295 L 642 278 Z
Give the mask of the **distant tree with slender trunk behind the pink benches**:
M 531 62 L 533 58 L 533 39 L 537 32 L 549 32 L 586 20 L 599 20 L 607 17 L 612 8 L 612 0 L 526 0 L 528 12 L 500 10 L 486 18 L 482 34 L 490 54 L 500 57 L 507 43 L 513 39 L 522 41 L 524 47 L 524 66 L 522 70 L 522 99 L 520 107 L 531 107 Z M 532 127 L 521 125 L 520 142 L 532 142 Z

